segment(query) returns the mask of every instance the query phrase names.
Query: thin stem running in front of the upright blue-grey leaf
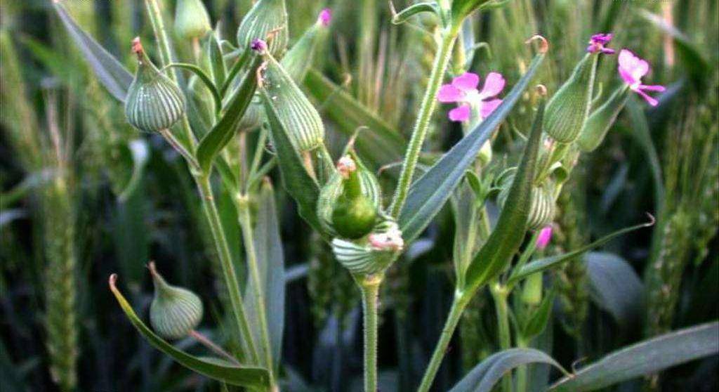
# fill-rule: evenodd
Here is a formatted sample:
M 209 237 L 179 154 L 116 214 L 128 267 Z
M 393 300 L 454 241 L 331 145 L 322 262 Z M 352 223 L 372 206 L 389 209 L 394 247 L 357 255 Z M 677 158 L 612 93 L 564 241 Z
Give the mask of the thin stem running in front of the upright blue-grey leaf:
M 272 345 L 270 344 L 270 329 L 267 327 L 267 312 L 265 308 L 265 291 L 260 281 L 260 268 L 257 265 L 257 252 L 255 251 L 255 236 L 252 233 L 252 221 L 249 216 L 249 198 L 246 195 L 237 197 L 237 214 L 239 226 L 242 228 L 242 241 L 244 252 L 247 255 L 252 287 L 255 289 L 255 307 L 257 317 L 260 319 L 260 334 L 262 335 L 262 350 L 265 352 L 265 365 L 270 373 L 270 385 L 275 385 L 273 375 Z

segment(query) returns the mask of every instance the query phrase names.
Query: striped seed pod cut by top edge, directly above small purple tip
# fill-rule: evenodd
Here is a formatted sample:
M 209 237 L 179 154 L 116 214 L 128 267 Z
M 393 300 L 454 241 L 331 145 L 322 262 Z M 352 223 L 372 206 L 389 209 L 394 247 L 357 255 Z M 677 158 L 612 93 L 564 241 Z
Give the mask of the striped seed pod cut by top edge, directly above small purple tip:
M 287 49 L 287 23 L 285 0 L 259 0 L 239 24 L 237 45 L 249 47 L 254 40 L 267 40 L 270 54 L 281 58 Z M 267 37 L 270 32 L 271 38 Z

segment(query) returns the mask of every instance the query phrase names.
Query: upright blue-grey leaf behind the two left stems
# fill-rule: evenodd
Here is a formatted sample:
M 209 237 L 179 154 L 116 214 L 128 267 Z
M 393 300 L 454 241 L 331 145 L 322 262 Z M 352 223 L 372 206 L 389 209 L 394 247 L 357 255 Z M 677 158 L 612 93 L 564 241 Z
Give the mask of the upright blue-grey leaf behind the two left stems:
M 260 272 L 260 285 L 265 294 L 265 314 L 267 327 L 270 329 L 270 345 L 274 368 L 278 369 L 282 352 L 282 333 L 285 326 L 285 255 L 280 238 L 278 211 L 275 207 L 275 193 L 272 185 L 265 182 L 260 191 L 257 207 L 257 223 L 255 224 L 254 242 L 257 255 L 257 268 Z M 254 281 L 249 280 L 245 309 L 249 315 L 250 326 L 253 327 L 257 342 L 261 342 L 259 315 L 252 294 Z

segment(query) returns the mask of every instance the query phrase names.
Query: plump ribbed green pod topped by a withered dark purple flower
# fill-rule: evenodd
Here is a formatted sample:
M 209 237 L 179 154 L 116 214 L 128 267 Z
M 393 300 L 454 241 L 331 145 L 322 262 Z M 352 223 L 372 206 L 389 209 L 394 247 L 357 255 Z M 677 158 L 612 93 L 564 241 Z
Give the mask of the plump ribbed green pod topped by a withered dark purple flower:
M 570 143 L 579 137 L 589 114 L 596 70 L 597 54 L 587 53 L 574 68 L 572 76 L 549 100 L 544 130 L 554 140 Z

